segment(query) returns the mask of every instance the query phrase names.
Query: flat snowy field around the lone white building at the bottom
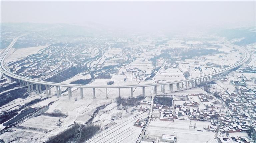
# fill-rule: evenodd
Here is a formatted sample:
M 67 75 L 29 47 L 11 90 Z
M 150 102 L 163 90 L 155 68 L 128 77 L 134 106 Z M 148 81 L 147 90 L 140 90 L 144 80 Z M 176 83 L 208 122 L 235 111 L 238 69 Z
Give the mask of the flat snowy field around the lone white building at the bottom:
M 173 122 L 152 120 L 149 123 L 145 136 L 158 139 L 156 142 L 161 141 L 163 134 L 176 136 L 177 142 L 217 142 L 214 139 L 214 132 L 197 131 L 204 130 L 203 128 L 211 125 L 211 122 L 196 121 L 196 128 L 192 129 L 190 126 L 194 126 L 194 124 L 195 121 L 189 120 L 174 119 Z

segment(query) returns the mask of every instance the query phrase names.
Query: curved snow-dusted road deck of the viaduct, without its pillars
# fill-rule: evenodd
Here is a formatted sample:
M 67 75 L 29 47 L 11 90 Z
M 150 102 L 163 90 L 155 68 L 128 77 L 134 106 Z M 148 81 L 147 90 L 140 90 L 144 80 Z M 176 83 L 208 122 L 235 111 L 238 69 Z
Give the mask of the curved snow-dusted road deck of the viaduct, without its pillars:
M 21 37 L 21 36 L 19 36 Z M 0 70 L 3 74 L 10 76 L 12 78 L 21 80 L 21 81 L 26 81 L 26 82 L 30 82 L 30 83 L 36 83 L 36 84 L 41 84 L 41 85 L 50 85 L 50 86 L 62 86 L 62 87 L 76 87 L 76 88 L 132 88 L 132 87 L 148 87 L 148 86 L 159 86 L 159 85 L 168 85 L 168 84 L 175 84 L 175 83 L 182 83 L 182 82 L 188 82 L 188 81 L 193 81 L 193 80 L 197 80 L 197 79 L 201 79 L 201 78 L 206 78 L 209 76 L 214 76 L 214 75 L 218 75 L 221 74 L 223 72 L 227 72 L 229 70 L 232 70 L 236 67 L 241 66 L 242 64 L 244 64 L 249 58 L 250 58 L 250 53 L 242 48 L 239 47 L 237 45 L 237 47 L 239 47 L 239 51 L 242 53 L 242 58 L 236 62 L 236 64 L 219 70 L 217 72 L 213 72 L 213 73 L 209 73 L 209 74 L 205 74 L 202 76 L 198 76 L 198 77 L 193 77 L 193 78 L 188 78 L 188 79 L 182 79 L 182 80 L 176 80 L 176 81 L 171 81 L 171 82 L 161 82 L 161 83 L 148 83 L 148 84 L 137 84 L 137 85 L 79 85 L 79 84 L 65 84 L 65 83 L 54 83 L 54 82 L 47 82 L 47 81 L 39 81 L 39 80 L 34 80 L 34 79 L 30 79 L 30 78 L 26 78 L 17 74 L 14 74 L 12 72 L 9 71 L 8 67 L 5 65 L 4 59 L 5 57 L 8 55 L 9 50 L 12 48 L 12 46 L 15 44 L 15 42 L 18 40 L 19 37 L 16 37 L 11 44 L 5 49 L 5 51 L 3 52 L 3 54 L 0 57 Z

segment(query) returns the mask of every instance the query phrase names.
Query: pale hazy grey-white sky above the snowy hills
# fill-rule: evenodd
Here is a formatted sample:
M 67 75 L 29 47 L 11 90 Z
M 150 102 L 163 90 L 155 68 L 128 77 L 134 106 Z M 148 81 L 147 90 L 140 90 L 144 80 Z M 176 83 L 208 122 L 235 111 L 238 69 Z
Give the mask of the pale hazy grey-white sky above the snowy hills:
M 1 23 L 88 22 L 127 29 L 255 25 L 255 1 L 1 1 Z

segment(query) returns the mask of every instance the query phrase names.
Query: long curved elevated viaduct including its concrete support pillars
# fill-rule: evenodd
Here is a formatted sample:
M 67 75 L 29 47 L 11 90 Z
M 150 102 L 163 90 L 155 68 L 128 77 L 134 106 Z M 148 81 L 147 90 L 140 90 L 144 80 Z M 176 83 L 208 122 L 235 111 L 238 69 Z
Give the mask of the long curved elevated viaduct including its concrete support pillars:
M 19 36 L 21 37 L 21 36 Z M 35 79 L 30 79 L 27 77 L 23 77 L 17 74 L 14 74 L 12 72 L 10 72 L 8 65 L 4 62 L 5 57 L 7 56 L 9 50 L 13 47 L 13 45 L 15 44 L 15 42 L 18 40 L 19 37 L 16 37 L 11 43 L 10 45 L 5 49 L 5 51 L 2 53 L 1 57 L 0 57 L 0 70 L 3 74 L 12 77 L 14 79 L 19 80 L 20 82 L 20 86 L 24 86 L 27 85 L 27 90 L 31 91 L 34 90 L 33 89 L 33 84 L 36 85 L 36 93 L 40 94 L 42 93 L 42 88 L 41 86 L 44 85 L 45 89 L 46 89 L 46 94 L 47 96 L 52 95 L 51 93 L 51 87 L 55 86 L 56 87 L 56 91 L 57 91 L 57 97 L 61 96 L 61 90 L 60 87 L 67 87 L 68 89 L 68 97 L 71 98 L 72 97 L 72 92 L 71 92 L 71 88 L 80 88 L 80 97 L 83 98 L 84 93 L 83 93 L 83 88 L 91 88 L 93 91 L 93 98 L 95 98 L 95 88 L 105 88 L 106 89 L 106 98 L 108 98 L 108 89 L 109 88 L 118 88 L 118 94 L 120 95 L 120 88 L 130 88 L 131 93 L 130 96 L 133 96 L 133 88 L 142 88 L 142 95 L 145 95 L 145 87 L 153 87 L 153 92 L 154 94 L 157 94 L 157 88 L 161 87 L 161 91 L 163 93 L 165 93 L 166 90 L 166 86 L 168 87 L 168 90 L 170 92 L 179 89 L 187 89 L 189 87 L 193 88 L 196 87 L 197 85 L 200 85 L 201 83 L 204 82 L 208 82 L 214 79 L 217 79 L 223 75 L 226 75 L 227 73 L 229 73 L 232 69 L 235 69 L 241 65 L 243 65 L 246 61 L 250 60 L 250 53 L 244 49 L 243 47 L 234 45 L 236 47 L 238 47 L 239 52 L 242 53 L 242 58 L 239 59 L 239 61 L 237 61 L 234 65 L 213 72 L 213 73 L 209 73 L 209 74 L 205 74 L 202 76 L 198 76 L 198 77 L 193 77 L 193 78 L 188 78 L 188 79 L 182 79 L 182 80 L 175 80 L 175 81 L 170 81 L 170 82 L 161 82 L 161 83 L 148 83 L 148 84 L 137 84 L 137 85 L 78 85 L 78 84 L 65 84 L 65 83 L 54 83 L 54 82 L 47 82 L 47 81 L 39 81 L 39 80 L 35 80 Z

